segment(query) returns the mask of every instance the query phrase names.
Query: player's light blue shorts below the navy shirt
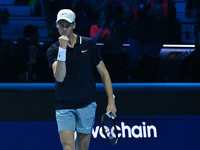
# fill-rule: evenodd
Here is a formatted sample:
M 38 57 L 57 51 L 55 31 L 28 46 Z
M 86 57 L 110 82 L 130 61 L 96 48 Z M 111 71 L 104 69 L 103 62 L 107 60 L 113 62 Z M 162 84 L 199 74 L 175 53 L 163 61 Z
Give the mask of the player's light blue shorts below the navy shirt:
M 91 134 L 96 107 L 96 102 L 93 102 L 78 109 L 56 110 L 58 131 L 72 130 L 83 134 Z

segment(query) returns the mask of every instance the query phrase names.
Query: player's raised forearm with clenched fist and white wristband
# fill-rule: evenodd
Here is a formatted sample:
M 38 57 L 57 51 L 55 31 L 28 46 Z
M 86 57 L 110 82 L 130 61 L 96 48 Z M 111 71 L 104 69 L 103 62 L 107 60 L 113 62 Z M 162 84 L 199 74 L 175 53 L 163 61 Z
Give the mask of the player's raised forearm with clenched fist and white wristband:
M 66 76 L 66 52 L 67 52 L 67 44 L 68 44 L 68 37 L 61 36 L 59 37 L 59 50 L 57 61 L 55 61 L 52 65 L 53 75 L 58 82 L 63 82 Z

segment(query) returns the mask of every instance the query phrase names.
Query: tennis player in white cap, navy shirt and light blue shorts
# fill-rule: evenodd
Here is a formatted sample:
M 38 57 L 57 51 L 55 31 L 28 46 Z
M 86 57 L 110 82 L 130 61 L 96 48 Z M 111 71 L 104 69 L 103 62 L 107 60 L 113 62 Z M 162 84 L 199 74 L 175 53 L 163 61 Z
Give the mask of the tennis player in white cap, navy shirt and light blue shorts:
M 108 97 L 106 111 L 116 116 L 109 73 L 95 42 L 73 32 L 75 14 L 62 9 L 57 14 L 58 42 L 47 50 L 55 77 L 56 121 L 64 150 L 88 150 L 97 104 L 93 69 L 98 70 Z M 95 67 L 94 67 L 95 66 Z M 77 132 L 75 146 L 74 132 Z

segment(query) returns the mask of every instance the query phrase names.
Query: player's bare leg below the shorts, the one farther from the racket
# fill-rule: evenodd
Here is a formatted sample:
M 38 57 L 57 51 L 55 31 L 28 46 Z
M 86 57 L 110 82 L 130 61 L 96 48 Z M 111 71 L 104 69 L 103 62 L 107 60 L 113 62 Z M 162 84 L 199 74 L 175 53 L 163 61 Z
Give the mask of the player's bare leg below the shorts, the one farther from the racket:
M 59 135 L 63 150 L 75 150 L 74 131 L 60 131 Z

